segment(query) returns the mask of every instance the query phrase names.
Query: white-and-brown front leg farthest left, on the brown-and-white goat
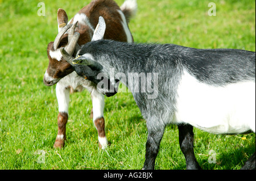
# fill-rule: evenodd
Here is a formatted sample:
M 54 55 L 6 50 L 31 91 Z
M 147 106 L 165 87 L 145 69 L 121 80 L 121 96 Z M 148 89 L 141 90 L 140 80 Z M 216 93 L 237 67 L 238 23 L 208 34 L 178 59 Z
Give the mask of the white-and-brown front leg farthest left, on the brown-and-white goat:
M 58 132 L 54 148 L 63 148 L 66 140 L 66 124 L 68 122 L 68 104 L 69 104 L 69 87 L 64 87 L 60 83 L 56 85 L 56 96 L 59 104 L 59 115 L 57 119 Z

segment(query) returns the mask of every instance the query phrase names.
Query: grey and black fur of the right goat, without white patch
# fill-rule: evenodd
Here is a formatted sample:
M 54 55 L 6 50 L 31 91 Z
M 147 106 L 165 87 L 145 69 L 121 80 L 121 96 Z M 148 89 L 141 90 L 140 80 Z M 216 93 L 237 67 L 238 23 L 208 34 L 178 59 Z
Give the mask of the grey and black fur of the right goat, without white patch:
M 101 72 L 110 79 L 110 69 L 114 69 L 126 75 L 126 80 L 121 82 L 128 82 L 126 86 L 130 90 L 134 85 L 129 84 L 131 82 L 129 73 L 158 73 L 158 90 L 155 90 L 158 91 L 157 98 L 148 99 L 147 91 L 132 92 L 135 102 L 147 121 L 148 138 L 144 169 L 154 169 L 164 128 L 175 116 L 177 87 L 184 70 L 199 82 L 216 87 L 237 82 L 255 82 L 255 52 L 246 50 L 195 49 L 174 44 L 133 44 L 98 40 L 85 44 L 79 56 L 76 61 L 80 61 L 80 65 L 73 65 L 79 75 L 89 77 L 93 74 L 92 72 Z M 102 69 L 88 66 L 88 62 L 91 64 L 93 61 L 102 65 Z M 98 83 L 95 78 L 91 80 Z M 114 85 L 114 83 L 113 80 L 110 81 L 110 84 Z M 99 90 L 103 94 L 107 93 L 106 90 Z M 193 161 L 187 161 L 187 168 L 199 169 L 191 153 L 193 151 L 192 127 L 182 129 L 185 133 L 180 133 L 184 137 L 184 140 L 180 141 L 181 150 L 184 154 L 192 155 L 192 157 L 185 155 L 186 161 L 187 158 L 193 158 Z M 187 145 L 190 145 L 190 153 L 186 151 Z M 255 163 L 253 167 L 255 168 Z

